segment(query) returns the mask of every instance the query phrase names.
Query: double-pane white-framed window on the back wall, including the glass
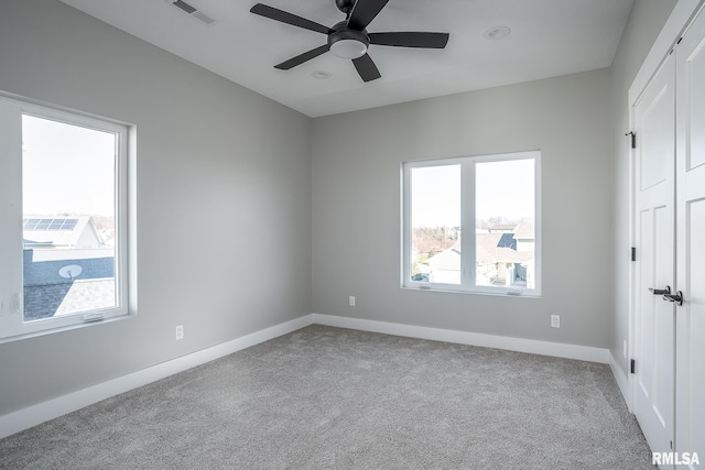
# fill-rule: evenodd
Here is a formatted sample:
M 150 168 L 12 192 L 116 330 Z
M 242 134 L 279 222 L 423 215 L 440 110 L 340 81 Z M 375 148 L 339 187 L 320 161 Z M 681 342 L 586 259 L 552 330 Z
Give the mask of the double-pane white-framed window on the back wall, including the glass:
M 403 287 L 541 294 L 540 152 L 403 165 Z

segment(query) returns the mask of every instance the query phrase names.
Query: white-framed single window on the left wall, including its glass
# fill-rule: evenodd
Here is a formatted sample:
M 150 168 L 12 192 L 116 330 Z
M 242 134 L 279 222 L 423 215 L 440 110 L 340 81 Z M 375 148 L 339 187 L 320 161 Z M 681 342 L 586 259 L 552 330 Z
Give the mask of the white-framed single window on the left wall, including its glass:
M 0 97 L 0 338 L 127 314 L 128 128 Z

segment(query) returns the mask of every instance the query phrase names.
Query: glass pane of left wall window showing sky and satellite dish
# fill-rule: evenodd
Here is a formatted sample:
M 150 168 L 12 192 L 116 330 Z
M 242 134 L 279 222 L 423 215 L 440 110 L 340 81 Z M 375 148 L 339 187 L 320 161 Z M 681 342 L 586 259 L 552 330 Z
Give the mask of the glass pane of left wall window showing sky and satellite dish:
M 116 139 L 22 117 L 25 321 L 118 306 Z

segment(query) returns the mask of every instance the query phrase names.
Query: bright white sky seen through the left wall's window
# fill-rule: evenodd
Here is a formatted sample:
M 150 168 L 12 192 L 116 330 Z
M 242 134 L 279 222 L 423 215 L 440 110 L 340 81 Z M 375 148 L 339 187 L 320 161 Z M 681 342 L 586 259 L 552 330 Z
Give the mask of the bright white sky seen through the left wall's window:
M 116 135 L 22 117 L 24 215 L 115 212 Z

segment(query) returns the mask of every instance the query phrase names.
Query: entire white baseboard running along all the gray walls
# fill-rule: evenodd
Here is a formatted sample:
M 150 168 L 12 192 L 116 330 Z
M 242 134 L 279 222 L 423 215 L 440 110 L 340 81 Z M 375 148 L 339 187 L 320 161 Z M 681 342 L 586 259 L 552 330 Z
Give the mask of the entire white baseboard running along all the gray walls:
M 592 348 L 587 346 L 564 345 L 532 339 L 510 338 L 468 331 L 455 331 L 386 321 L 364 320 L 359 318 L 310 314 L 212 348 L 196 351 L 128 375 L 102 382 L 97 385 L 0 416 L 0 438 L 28 429 L 32 426 L 36 426 L 37 424 L 50 419 L 57 418 L 67 413 L 75 412 L 76 409 L 80 409 L 111 396 L 129 392 L 130 390 L 139 386 L 183 372 L 196 365 L 200 365 L 251 346 L 269 341 L 270 339 L 286 335 L 313 324 L 394 336 L 405 336 L 410 338 L 507 349 L 510 351 L 529 352 L 558 358 L 578 359 L 590 362 L 610 363 L 611 359 L 607 349 Z M 612 371 L 616 370 L 619 371 L 619 368 L 612 367 Z M 620 383 L 619 378 L 617 378 L 617 383 Z M 625 394 L 621 384 L 620 390 L 622 390 L 622 394 Z M 625 394 L 625 396 L 627 395 Z

